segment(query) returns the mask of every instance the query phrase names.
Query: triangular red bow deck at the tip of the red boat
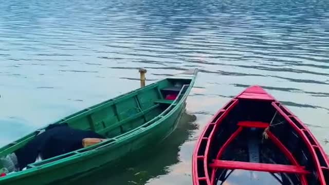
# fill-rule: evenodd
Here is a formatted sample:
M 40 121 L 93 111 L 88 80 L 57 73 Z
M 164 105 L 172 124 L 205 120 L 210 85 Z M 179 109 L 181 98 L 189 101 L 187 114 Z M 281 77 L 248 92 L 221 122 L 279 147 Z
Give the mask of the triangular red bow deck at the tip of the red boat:
M 268 94 L 259 85 L 252 85 L 252 86 L 246 88 L 239 96 L 237 96 L 237 98 L 275 101 L 275 98 L 273 98 L 270 94 Z

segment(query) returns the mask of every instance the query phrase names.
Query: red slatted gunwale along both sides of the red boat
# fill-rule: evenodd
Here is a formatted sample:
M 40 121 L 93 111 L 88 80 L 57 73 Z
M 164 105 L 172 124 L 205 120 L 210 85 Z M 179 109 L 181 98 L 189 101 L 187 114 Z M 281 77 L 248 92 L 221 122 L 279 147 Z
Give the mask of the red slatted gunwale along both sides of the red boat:
M 249 86 L 252 87 L 252 86 Z M 246 88 L 247 89 L 247 88 Z M 230 104 L 232 101 L 237 100 L 239 101 L 239 99 L 244 99 L 244 98 L 239 98 L 239 96 L 241 96 L 245 91 L 243 90 L 241 93 L 239 93 L 238 95 L 236 95 L 234 98 L 231 98 L 222 108 L 218 109 L 216 114 L 213 115 L 208 123 L 204 126 L 203 128 L 203 132 L 199 135 L 199 137 L 197 138 L 197 142 L 195 144 L 195 148 L 193 150 L 193 155 L 192 155 L 192 180 L 193 180 L 193 184 L 195 185 L 199 185 L 199 180 L 203 180 L 206 181 L 206 184 L 213 184 L 213 181 L 210 179 L 209 177 L 209 173 L 208 173 L 208 151 L 209 151 L 209 143 L 211 142 L 211 137 L 213 135 L 213 133 L 215 132 L 218 124 L 220 124 L 220 120 L 221 118 L 225 118 L 225 116 L 227 116 L 227 110 L 224 109 L 226 106 L 228 106 L 228 104 Z M 265 91 L 265 90 L 264 90 Z M 266 92 L 266 91 L 265 91 Z M 267 93 L 267 92 L 266 92 Z M 316 172 L 317 172 L 317 176 L 318 179 L 321 183 L 321 185 L 325 185 L 325 179 L 324 179 L 324 175 L 323 175 L 323 168 L 328 169 L 329 167 L 329 157 L 327 157 L 327 155 L 325 154 L 322 146 L 320 145 L 320 143 L 318 142 L 318 140 L 315 138 L 315 136 L 309 131 L 309 128 L 305 125 L 305 123 L 303 123 L 296 115 L 294 115 L 291 110 L 289 110 L 288 108 L 286 108 L 280 101 L 278 101 L 275 97 L 273 97 L 271 94 L 267 93 L 267 95 L 272 98 L 272 100 L 266 99 L 266 100 L 262 100 L 262 99 L 256 99 L 256 98 L 249 98 L 250 101 L 262 101 L 262 102 L 270 102 L 271 105 L 273 106 L 273 108 L 275 108 L 275 110 L 277 112 L 280 113 L 281 116 L 284 117 L 284 119 L 288 122 L 288 124 L 290 126 L 292 126 L 292 129 L 297 131 L 299 136 L 301 136 L 303 138 L 304 143 L 307 145 L 308 151 L 310 152 L 310 154 L 312 155 L 313 158 L 313 163 L 316 164 Z M 284 108 L 284 110 L 282 110 L 277 104 L 279 104 L 282 108 Z M 288 112 L 290 114 L 290 116 L 288 116 L 284 111 Z M 224 112 L 221 116 L 218 117 L 218 115 L 221 114 L 221 112 Z M 218 118 L 216 118 L 218 117 Z M 294 117 L 297 122 L 299 122 L 299 124 L 302 126 L 302 128 L 299 128 L 297 126 L 296 123 L 294 123 L 293 120 L 290 119 L 290 117 Z M 205 133 L 208 131 L 208 127 L 213 123 L 213 120 L 216 120 L 215 125 L 212 127 L 212 131 L 210 133 L 210 135 L 208 136 L 208 138 L 205 138 Z M 309 134 L 309 136 L 312 138 L 312 140 L 315 142 L 317 149 L 320 151 L 320 154 L 322 155 L 322 157 L 324 158 L 324 162 L 327 165 L 327 167 L 323 167 L 321 166 L 318 156 L 315 152 L 315 149 L 313 146 L 314 144 L 312 144 L 308 137 L 306 136 L 306 134 L 304 132 L 307 132 L 307 134 Z M 207 145 L 206 148 L 204 149 L 204 156 L 198 156 L 198 152 L 200 149 L 200 144 L 202 142 L 203 139 L 207 139 Z M 198 160 L 203 160 L 204 162 L 204 166 L 203 167 L 199 167 L 198 165 Z M 198 168 L 204 168 L 204 177 L 198 177 L 199 173 L 198 173 Z M 214 175 L 214 173 L 212 173 L 212 175 Z M 213 179 L 213 178 L 212 178 Z M 302 181 L 305 181 L 305 177 L 301 177 Z

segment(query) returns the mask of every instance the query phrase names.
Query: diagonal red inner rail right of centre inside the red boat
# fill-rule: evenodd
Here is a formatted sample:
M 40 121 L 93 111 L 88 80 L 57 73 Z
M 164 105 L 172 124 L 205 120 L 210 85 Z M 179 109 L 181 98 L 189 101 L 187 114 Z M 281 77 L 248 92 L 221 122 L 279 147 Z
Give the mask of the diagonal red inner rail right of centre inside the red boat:
M 273 135 L 270 131 L 267 132 L 268 138 L 279 147 L 280 151 L 289 159 L 291 163 L 294 165 L 300 166 L 293 154 L 285 147 L 285 145 L 275 136 Z M 301 175 L 301 183 L 302 185 L 307 185 L 307 179 L 305 175 Z

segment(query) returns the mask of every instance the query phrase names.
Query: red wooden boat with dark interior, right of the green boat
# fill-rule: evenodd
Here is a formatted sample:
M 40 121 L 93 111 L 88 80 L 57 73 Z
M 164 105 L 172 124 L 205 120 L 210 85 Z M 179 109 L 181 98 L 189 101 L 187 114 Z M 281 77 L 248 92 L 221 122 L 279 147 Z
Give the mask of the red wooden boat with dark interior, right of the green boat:
M 260 86 L 248 87 L 213 116 L 192 160 L 194 185 L 230 184 L 234 171 L 266 174 L 270 184 L 329 185 L 329 159 L 319 142 Z

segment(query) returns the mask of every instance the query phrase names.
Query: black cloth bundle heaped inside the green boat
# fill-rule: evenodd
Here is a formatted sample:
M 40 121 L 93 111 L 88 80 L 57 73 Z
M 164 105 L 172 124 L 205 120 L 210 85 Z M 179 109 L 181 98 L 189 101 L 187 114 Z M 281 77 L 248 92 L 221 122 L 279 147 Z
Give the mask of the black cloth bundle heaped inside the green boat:
M 104 139 L 103 136 L 92 131 L 78 130 L 67 124 L 51 124 L 43 133 L 35 136 L 24 147 L 15 151 L 19 168 L 22 170 L 27 164 L 33 163 L 38 155 L 42 159 L 48 159 L 81 149 L 84 138 Z

